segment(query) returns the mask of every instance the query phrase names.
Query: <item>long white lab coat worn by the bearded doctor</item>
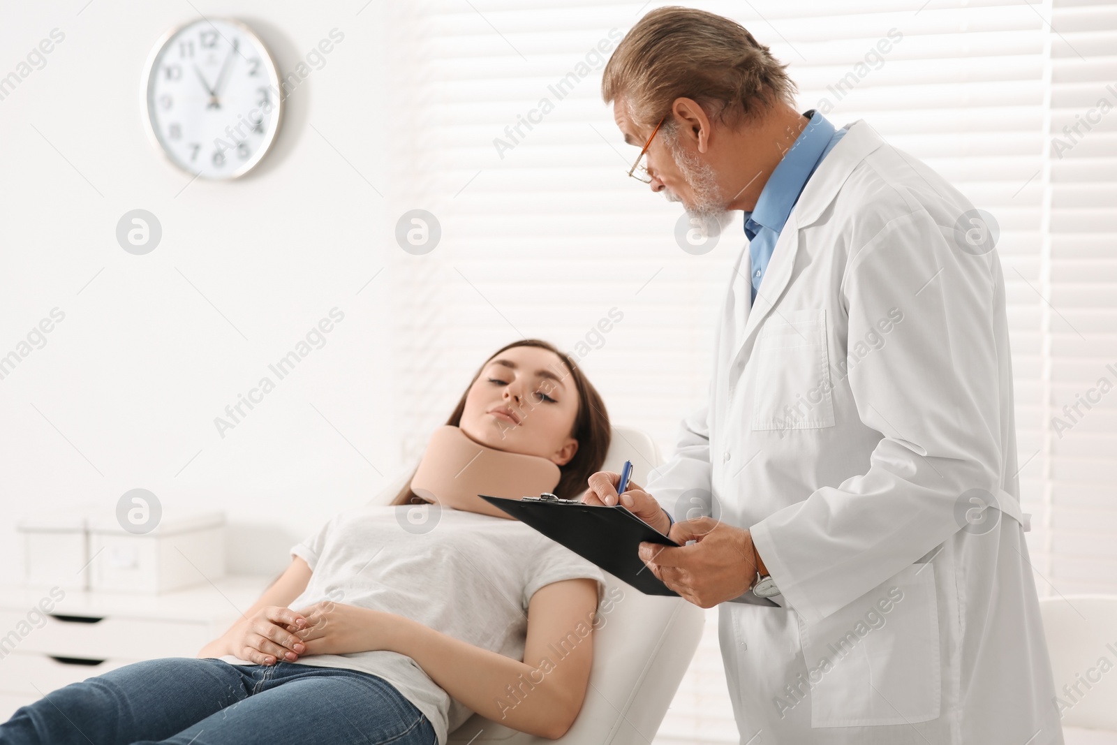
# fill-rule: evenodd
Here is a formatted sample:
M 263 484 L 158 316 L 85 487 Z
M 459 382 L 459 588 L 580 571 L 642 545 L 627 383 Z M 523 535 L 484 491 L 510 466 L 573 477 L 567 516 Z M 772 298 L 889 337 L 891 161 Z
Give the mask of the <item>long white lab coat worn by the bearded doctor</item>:
M 743 744 L 1062 743 L 1004 281 L 995 251 L 955 243 L 968 209 L 859 121 L 808 182 L 742 329 L 747 247 L 737 259 L 709 401 L 647 489 L 677 518 L 750 528 L 782 591 L 719 606 Z M 1000 512 L 967 519 L 975 488 Z

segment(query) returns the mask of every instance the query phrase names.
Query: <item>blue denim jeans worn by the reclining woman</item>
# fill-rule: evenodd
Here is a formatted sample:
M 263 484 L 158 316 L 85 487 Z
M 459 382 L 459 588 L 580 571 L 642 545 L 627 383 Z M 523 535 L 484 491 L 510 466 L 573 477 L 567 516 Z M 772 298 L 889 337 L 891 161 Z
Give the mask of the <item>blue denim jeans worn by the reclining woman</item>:
M 367 672 L 170 657 L 74 682 L 0 724 L 2 745 L 435 745 L 435 728 Z

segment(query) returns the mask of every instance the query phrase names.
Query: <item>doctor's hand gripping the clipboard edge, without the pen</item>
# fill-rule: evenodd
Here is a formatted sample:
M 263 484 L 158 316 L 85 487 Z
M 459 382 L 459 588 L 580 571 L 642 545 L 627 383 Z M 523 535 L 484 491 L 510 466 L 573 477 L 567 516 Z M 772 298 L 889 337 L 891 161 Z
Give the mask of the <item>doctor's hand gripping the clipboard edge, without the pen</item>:
M 663 584 L 699 608 L 744 594 L 756 579 L 756 558 L 748 531 L 696 517 L 671 526 L 676 546 L 640 544 L 640 558 Z M 689 546 L 687 541 L 695 541 Z

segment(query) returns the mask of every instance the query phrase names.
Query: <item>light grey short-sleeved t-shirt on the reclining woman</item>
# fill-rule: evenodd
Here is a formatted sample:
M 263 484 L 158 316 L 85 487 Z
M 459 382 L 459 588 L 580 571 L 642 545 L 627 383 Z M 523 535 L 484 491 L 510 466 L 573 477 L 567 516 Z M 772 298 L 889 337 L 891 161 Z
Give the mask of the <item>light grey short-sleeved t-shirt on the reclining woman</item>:
M 516 660 L 524 659 L 536 590 L 589 577 L 598 581 L 599 603 L 604 595 L 604 572 L 524 523 L 432 505 L 347 509 L 290 552 L 313 574 L 288 608 L 333 600 L 397 613 Z M 383 678 L 430 719 L 439 745 L 472 714 L 398 652 L 309 655 L 296 663 Z

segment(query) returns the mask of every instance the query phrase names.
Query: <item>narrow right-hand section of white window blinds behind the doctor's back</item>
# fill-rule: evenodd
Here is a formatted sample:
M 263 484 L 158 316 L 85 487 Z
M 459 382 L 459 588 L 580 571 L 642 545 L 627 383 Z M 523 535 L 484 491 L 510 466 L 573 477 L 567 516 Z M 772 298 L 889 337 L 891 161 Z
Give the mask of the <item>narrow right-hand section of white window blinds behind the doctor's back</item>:
M 1117 3 L 1056 0 L 1035 279 L 1044 355 L 1042 467 L 1050 586 L 1117 593 Z M 1039 471 L 1038 471 L 1039 474 Z

